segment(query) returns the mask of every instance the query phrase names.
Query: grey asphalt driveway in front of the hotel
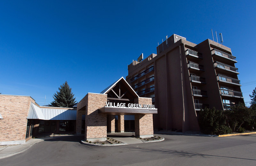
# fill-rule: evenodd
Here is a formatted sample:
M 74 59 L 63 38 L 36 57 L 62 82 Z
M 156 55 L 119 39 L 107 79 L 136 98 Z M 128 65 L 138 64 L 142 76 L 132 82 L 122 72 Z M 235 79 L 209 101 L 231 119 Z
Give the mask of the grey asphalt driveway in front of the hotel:
M 0 159 L 0 165 L 256 165 L 256 134 L 158 135 L 165 140 L 113 147 L 83 145 L 83 136 L 54 138 Z

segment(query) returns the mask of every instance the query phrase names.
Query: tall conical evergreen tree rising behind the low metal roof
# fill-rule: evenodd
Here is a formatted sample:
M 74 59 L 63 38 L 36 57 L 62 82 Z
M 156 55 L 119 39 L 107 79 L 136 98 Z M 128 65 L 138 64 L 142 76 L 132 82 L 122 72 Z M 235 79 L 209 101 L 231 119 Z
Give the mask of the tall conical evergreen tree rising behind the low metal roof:
M 55 93 L 52 96 L 54 101 L 51 102 L 50 106 L 72 108 L 76 104 L 76 98 L 74 98 L 74 94 L 71 92 L 67 81 L 60 85 L 59 91 L 56 91 L 57 94 Z

